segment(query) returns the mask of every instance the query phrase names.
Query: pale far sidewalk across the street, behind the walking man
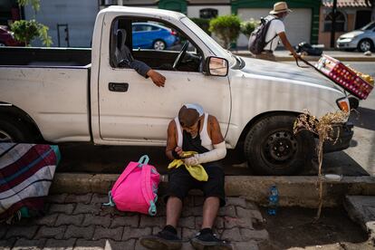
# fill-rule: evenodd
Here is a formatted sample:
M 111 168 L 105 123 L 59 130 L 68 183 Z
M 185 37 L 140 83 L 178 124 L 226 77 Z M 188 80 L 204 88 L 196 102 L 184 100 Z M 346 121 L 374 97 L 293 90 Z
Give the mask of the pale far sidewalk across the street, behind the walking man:
M 251 57 L 251 53 L 247 50 L 233 50 L 232 53 L 244 56 Z M 330 55 L 341 62 L 375 62 L 375 53 L 371 55 L 364 55 L 363 53 L 352 53 L 352 52 L 341 52 L 341 51 L 324 51 L 323 53 Z M 275 51 L 274 55 L 276 56 L 276 61 L 294 61 L 292 55 L 289 51 L 280 50 Z M 307 61 L 318 61 L 320 56 L 304 56 L 304 59 Z

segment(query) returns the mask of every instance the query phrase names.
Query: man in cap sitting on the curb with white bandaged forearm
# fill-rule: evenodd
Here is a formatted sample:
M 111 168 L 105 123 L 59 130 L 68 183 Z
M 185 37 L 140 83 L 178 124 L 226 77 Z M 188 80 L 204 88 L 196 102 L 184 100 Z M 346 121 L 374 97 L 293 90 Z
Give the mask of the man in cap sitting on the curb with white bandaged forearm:
M 184 152 L 197 154 L 184 158 Z M 177 236 L 178 219 L 184 197 L 189 189 L 201 189 L 205 196 L 201 230 L 190 243 L 197 249 L 232 249 L 232 245 L 220 240 L 213 233 L 219 207 L 226 205 L 224 170 L 220 159 L 226 157 L 226 143 L 215 116 L 206 113 L 199 104 L 185 104 L 178 117 L 168 125 L 166 155 L 168 159 L 182 159 L 187 166 L 202 165 L 207 172 L 206 181 L 198 181 L 187 168 L 172 168 L 168 172 L 167 223 L 157 235 L 143 236 L 140 244 L 149 249 L 179 249 L 181 239 Z M 218 247 L 218 248 L 217 248 Z

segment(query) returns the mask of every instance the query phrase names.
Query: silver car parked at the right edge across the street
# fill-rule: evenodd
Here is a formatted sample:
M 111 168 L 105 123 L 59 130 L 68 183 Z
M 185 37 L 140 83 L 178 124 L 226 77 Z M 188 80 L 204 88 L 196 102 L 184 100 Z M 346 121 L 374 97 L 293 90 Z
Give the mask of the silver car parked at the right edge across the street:
M 371 22 L 359 30 L 341 34 L 336 44 L 337 48 L 341 50 L 373 51 L 375 49 L 375 22 Z

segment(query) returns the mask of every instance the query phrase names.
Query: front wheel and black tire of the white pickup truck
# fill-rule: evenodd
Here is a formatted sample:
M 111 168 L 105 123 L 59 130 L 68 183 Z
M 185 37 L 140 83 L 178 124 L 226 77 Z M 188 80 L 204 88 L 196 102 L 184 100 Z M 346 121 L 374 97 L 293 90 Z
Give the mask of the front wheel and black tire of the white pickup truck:
M 245 138 L 248 166 L 264 175 L 293 175 L 312 168 L 315 141 L 308 131 L 293 134 L 293 115 L 274 115 L 259 120 Z

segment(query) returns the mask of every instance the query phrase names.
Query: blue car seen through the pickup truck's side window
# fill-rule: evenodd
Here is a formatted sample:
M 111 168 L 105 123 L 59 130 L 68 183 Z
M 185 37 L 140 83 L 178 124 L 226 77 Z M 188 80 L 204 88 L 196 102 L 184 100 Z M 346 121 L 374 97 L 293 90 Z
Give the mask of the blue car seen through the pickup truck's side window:
M 151 23 L 134 23 L 133 49 L 165 50 L 178 41 L 176 32 L 165 26 Z

